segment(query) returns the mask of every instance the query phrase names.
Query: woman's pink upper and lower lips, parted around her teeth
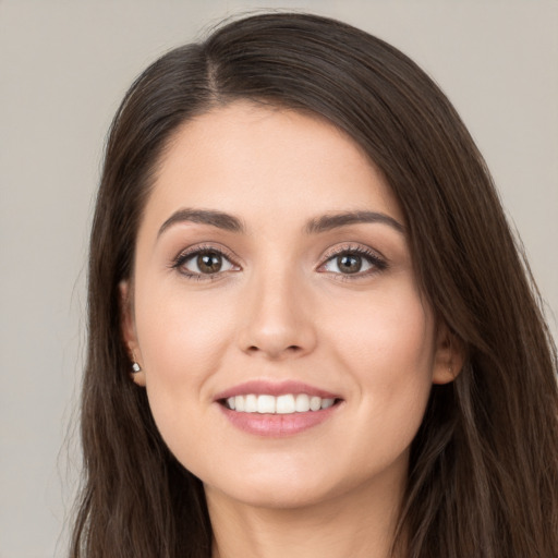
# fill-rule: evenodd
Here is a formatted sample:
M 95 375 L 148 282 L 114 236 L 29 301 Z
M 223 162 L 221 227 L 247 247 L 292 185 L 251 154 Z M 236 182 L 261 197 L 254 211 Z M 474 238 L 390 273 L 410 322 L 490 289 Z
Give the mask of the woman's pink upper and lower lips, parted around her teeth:
M 232 411 L 225 407 L 222 401 L 230 397 L 244 396 L 254 393 L 256 396 L 284 396 L 292 393 L 306 393 L 311 397 L 316 396 L 323 399 L 336 399 L 336 404 L 328 409 L 320 409 L 319 411 L 307 411 L 305 413 L 292 414 L 260 414 L 260 413 L 244 413 Z M 342 407 L 342 398 L 308 384 L 302 381 L 268 381 L 268 380 L 251 380 L 244 384 L 239 384 L 230 389 L 221 391 L 215 397 L 215 402 L 218 404 L 219 410 L 228 418 L 230 424 L 235 428 L 251 435 L 270 438 L 282 438 L 287 436 L 294 436 L 295 434 L 303 433 L 318 426 L 332 415 L 335 415 Z

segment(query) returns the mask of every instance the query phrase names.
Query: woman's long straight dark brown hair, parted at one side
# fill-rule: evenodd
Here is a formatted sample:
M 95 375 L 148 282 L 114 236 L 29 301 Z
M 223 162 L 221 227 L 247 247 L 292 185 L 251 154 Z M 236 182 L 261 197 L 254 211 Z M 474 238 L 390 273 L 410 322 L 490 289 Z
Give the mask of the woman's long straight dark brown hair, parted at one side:
M 234 99 L 312 111 L 360 144 L 399 199 L 425 295 L 466 352 L 456 381 L 433 387 L 396 548 L 558 556 L 556 350 L 484 160 L 409 58 L 343 23 L 290 13 L 235 21 L 165 54 L 114 118 L 90 238 L 85 477 L 71 556 L 210 556 L 202 484 L 130 380 L 119 283 L 171 135 Z

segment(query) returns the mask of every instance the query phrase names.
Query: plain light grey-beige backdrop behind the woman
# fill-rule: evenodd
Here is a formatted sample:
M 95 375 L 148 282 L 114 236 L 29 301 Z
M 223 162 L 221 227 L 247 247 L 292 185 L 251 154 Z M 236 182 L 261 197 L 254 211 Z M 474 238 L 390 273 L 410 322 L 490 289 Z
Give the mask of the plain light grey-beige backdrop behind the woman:
M 556 0 L 0 0 L 0 558 L 64 556 L 87 235 L 111 117 L 159 54 L 262 8 L 345 20 L 434 76 L 486 157 L 556 333 Z

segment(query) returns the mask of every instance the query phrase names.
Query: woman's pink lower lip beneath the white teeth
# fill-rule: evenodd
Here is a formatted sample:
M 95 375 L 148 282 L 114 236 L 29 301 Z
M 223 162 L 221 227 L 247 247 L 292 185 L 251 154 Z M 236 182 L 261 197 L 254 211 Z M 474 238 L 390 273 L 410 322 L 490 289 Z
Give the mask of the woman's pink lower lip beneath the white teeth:
M 268 437 L 293 436 L 327 421 L 338 409 L 339 403 L 320 411 L 292 414 L 260 414 L 231 411 L 219 404 L 225 416 L 233 426 L 248 434 Z

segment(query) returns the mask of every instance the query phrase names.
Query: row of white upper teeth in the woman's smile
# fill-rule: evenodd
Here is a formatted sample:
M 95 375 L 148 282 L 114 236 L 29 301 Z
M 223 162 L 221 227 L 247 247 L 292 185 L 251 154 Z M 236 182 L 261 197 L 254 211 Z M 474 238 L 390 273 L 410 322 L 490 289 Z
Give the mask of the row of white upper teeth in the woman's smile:
M 307 393 L 287 393 L 279 397 L 246 393 L 228 398 L 226 405 L 228 409 L 241 413 L 292 414 L 329 409 L 335 402 L 336 400 L 332 398 L 322 399 Z

